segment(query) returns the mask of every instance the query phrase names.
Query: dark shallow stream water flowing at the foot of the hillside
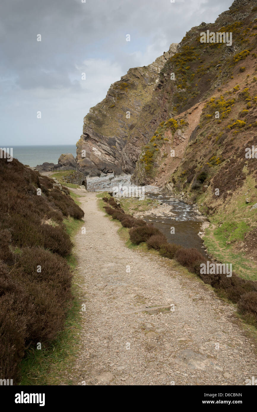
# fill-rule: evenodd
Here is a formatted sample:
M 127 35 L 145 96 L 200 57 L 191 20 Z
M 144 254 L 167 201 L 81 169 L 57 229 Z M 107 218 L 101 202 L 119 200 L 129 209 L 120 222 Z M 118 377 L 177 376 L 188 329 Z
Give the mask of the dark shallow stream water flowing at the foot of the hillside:
M 153 222 L 168 239 L 169 243 L 176 243 L 186 248 L 196 248 L 207 257 L 203 248 L 203 241 L 198 235 L 201 230 L 202 220 L 196 213 L 195 208 L 192 205 L 187 205 L 182 201 L 178 201 L 171 197 L 158 197 L 156 193 L 148 193 L 147 196 L 150 199 L 158 199 L 163 203 L 171 206 L 171 212 L 175 216 L 165 215 L 163 216 L 151 216 L 147 215 L 144 220 Z M 174 234 L 171 234 L 171 227 L 174 227 Z

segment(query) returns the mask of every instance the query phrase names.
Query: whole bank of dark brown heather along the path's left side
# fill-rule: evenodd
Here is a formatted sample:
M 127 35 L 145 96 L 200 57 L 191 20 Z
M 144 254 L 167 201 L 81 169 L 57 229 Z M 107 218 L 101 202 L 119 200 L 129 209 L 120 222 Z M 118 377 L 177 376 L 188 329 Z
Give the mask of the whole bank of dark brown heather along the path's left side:
M 62 256 L 73 244 L 62 221 L 84 213 L 53 183 L 17 159 L 0 159 L 0 379 L 15 384 L 26 348 L 57 337 L 72 300 Z

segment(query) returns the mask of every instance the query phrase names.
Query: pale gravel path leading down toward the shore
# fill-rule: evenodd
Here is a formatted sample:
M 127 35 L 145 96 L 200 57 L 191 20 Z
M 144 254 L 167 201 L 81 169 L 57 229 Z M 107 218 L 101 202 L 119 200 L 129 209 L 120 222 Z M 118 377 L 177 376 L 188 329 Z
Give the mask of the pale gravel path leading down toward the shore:
M 94 193 L 80 201 L 86 233 L 75 249 L 85 311 L 80 353 L 66 375 L 74 385 L 245 385 L 257 377 L 255 343 L 233 306 L 168 259 L 127 248 Z

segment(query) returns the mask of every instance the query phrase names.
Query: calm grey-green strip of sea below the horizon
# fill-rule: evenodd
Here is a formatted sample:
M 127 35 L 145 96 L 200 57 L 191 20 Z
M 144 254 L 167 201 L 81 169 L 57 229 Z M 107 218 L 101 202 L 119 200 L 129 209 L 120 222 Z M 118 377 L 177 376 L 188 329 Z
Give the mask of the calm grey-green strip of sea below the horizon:
M 12 146 L 12 149 L 15 159 L 31 167 L 44 162 L 57 164 L 59 157 L 64 153 L 71 153 L 76 157 L 76 145 L 28 145 Z

